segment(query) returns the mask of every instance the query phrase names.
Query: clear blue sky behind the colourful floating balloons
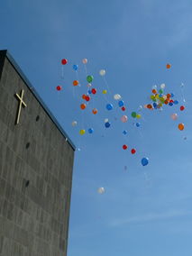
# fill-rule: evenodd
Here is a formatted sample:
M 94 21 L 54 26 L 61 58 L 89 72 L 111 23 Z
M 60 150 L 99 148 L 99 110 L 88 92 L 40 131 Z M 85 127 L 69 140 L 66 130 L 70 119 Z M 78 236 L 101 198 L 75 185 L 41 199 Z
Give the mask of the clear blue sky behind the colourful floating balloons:
M 0 48 L 10 51 L 78 149 L 69 256 L 191 254 L 191 13 L 189 0 L 2 1 Z M 63 58 L 69 63 L 61 78 Z M 97 94 L 82 111 L 84 58 Z M 79 65 L 81 87 L 72 86 L 77 78 L 73 64 Z M 100 69 L 106 70 L 105 97 Z M 142 108 L 141 127 L 135 127 L 132 111 L 148 104 L 151 87 L 162 83 L 179 104 L 162 111 Z M 55 89 L 58 85 L 61 92 Z M 123 96 L 125 113 L 114 101 L 117 93 Z M 106 102 L 114 105 L 111 112 Z M 185 111 L 180 112 L 180 105 Z M 91 114 L 93 107 L 98 114 Z M 171 120 L 173 113 L 177 121 Z M 120 120 L 123 114 L 127 123 Z M 111 123 L 108 129 L 105 118 Z M 178 123 L 185 123 L 183 132 Z M 93 134 L 79 135 L 90 127 Z M 142 157 L 149 158 L 149 165 L 142 167 Z M 98 187 L 105 187 L 103 195 Z

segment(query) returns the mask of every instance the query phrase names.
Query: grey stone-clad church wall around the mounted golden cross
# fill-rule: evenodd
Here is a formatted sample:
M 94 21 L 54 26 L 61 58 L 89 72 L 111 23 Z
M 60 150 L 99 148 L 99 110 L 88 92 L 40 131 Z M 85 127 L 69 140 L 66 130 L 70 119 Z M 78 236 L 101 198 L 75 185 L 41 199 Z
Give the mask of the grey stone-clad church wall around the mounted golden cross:
M 13 62 L 0 51 L 0 256 L 66 256 L 75 148 Z

